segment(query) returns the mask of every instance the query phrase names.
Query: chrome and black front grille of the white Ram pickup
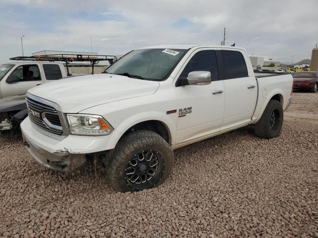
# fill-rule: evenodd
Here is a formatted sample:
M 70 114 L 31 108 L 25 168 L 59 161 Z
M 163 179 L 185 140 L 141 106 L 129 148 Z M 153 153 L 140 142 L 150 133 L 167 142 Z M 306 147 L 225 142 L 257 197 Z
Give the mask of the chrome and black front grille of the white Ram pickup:
M 61 120 L 54 107 L 40 103 L 28 97 L 26 97 L 26 104 L 28 107 L 28 116 L 35 125 L 56 135 L 63 134 Z M 52 125 L 49 125 L 50 123 L 46 123 L 43 116 L 45 116 L 45 119 L 54 125 L 55 128 L 52 128 Z

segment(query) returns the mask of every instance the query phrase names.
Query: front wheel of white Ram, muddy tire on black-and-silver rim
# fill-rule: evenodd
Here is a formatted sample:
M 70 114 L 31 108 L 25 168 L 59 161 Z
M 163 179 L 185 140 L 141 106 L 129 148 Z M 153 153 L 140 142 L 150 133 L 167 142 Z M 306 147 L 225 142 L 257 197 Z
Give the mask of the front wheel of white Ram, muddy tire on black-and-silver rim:
M 111 157 L 107 163 L 108 178 L 114 189 L 121 192 L 158 186 L 170 175 L 174 160 L 168 143 L 149 130 L 124 136 Z

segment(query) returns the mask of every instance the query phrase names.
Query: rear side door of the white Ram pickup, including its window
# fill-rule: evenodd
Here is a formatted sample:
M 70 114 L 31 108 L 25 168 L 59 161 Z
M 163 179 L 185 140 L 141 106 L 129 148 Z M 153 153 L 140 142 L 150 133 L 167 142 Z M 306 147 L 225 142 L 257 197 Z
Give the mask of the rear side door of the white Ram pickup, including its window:
M 250 60 L 244 51 L 219 48 L 218 63 L 220 78 L 224 80 L 225 86 L 222 129 L 247 124 L 257 99 L 256 79 Z

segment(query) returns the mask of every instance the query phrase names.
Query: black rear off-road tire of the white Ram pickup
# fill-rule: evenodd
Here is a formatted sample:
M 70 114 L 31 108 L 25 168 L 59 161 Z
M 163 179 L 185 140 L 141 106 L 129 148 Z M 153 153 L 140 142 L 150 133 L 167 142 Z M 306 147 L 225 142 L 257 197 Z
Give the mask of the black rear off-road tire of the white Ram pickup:
M 271 128 L 271 117 L 275 114 L 276 121 Z M 271 139 L 280 134 L 283 125 L 283 108 L 280 102 L 270 100 L 263 112 L 262 117 L 254 125 L 254 133 L 260 138 Z

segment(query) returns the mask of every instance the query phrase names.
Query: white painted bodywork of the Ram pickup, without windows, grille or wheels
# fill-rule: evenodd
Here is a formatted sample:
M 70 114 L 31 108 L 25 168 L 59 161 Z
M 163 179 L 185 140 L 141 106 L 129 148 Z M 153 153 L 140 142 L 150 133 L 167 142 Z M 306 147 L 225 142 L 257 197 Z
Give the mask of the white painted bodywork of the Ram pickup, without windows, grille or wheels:
M 57 103 L 63 113 L 94 114 L 104 117 L 114 128 L 110 135 L 96 137 L 69 135 L 63 140 L 56 140 L 35 132 L 32 129 L 34 125 L 29 119 L 25 119 L 21 124 L 25 136 L 35 145 L 48 151 L 54 151 L 65 144 L 70 149 L 70 153 L 73 153 L 74 148 L 76 151 L 80 150 L 80 153 L 92 153 L 113 149 L 126 130 L 139 122 L 159 120 L 167 128 L 169 143 L 171 148 L 175 149 L 255 123 L 260 119 L 270 98 L 276 94 L 281 95 L 283 109 L 290 100 L 292 76 L 278 75 L 259 78 L 256 81 L 249 58 L 241 48 L 206 45 L 151 48 L 189 49 L 189 51 L 170 76 L 160 82 L 103 74 L 74 77 L 74 80 L 68 79 L 68 81 L 60 80 L 28 91 L 35 96 Z M 175 86 L 182 69 L 196 51 L 224 48 L 240 51 L 243 54 L 248 77 L 212 81 L 209 85 Z M 254 84 L 255 87 L 248 89 L 247 85 L 250 84 Z M 213 95 L 213 90 L 224 92 Z M 264 90 L 266 93 L 263 93 Z M 187 107 L 192 107 L 192 112 L 186 117 L 179 118 L 178 113 L 166 114 L 167 111 Z M 92 144 L 88 143 L 89 141 Z

